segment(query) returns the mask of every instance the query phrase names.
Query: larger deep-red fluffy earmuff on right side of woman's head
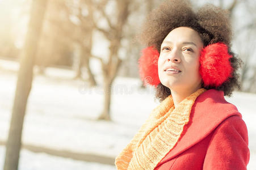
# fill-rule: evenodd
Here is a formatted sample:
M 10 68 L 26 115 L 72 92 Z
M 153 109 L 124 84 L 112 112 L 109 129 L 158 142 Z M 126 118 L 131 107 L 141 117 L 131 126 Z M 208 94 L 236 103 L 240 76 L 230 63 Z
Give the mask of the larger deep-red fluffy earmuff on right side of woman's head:
M 228 46 L 222 42 L 217 42 L 205 46 L 200 56 L 200 75 L 204 86 L 218 87 L 232 76 L 233 68 L 230 65 Z

